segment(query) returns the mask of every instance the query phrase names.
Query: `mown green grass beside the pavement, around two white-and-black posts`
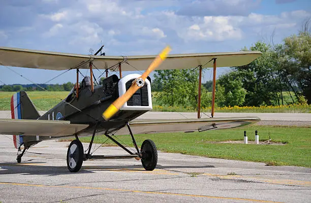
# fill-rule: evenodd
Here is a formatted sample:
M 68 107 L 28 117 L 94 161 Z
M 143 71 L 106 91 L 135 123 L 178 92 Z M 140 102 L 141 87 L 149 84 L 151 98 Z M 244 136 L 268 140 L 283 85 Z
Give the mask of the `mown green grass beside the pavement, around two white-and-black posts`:
M 243 140 L 246 130 L 248 140 L 254 141 L 258 130 L 260 141 L 269 139 L 286 145 L 245 145 L 211 143 L 228 140 Z M 119 141 L 133 146 L 130 136 L 118 136 Z M 211 158 L 235 159 L 264 162 L 267 165 L 296 165 L 311 167 L 311 128 L 308 127 L 268 127 L 249 126 L 237 129 L 210 130 L 193 133 L 159 133 L 135 136 L 140 146 L 145 139 L 151 139 L 159 150 L 165 152 L 198 155 Z M 106 137 L 95 138 L 96 143 L 103 143 Z M 89 142 L 90 137 L 81 138 Z M 108 141 L 108 144 L 113 145 Z

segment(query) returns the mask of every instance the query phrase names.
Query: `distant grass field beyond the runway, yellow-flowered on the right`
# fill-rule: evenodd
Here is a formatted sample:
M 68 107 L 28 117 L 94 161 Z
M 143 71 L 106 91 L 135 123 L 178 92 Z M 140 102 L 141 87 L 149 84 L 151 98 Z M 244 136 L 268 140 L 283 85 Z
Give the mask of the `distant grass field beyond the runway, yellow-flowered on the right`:
M 15 92 L 0 92 L 0 111 L 10 110 L 11 96 Z M 29 98 L 39 111 L 47 111 L 66 98 L 69 92 L 64 91 L 33 91 L 27 92 Z M 196 112 L 193 108 L 169 107 L 157 105 L 156 99 L 152 100 L 152 111 L 166 112 Z M 210 112 L 209 108 L 203 108 L 201 112 Z M 216 107 L 216 112 L 241 112 L 241 113 L 311 113 L 311 105 L 285 105 L 285 106 L 265 106 L 265 107 Z

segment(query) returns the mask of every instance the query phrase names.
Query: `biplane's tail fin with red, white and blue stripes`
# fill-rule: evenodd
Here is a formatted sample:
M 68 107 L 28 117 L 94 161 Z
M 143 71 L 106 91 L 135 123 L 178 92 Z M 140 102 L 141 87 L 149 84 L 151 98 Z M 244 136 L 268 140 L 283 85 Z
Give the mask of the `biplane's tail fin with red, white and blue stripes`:
M 25 91 L 16 92 L 11 97 L 12 119 L 38 119 L 39 112 Z M 23 136 L 13 136 L 14 146 L 18 149 L 23 143 Z

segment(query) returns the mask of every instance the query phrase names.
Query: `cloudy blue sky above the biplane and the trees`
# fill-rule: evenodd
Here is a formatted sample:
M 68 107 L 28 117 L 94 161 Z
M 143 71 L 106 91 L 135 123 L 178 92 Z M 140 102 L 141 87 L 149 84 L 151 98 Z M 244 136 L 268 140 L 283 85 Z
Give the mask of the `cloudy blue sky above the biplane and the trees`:
M 172 53 L 239 51 L 271 36 L 282 43 L 310 17 L 309 0 L 2 0 L 0 46 L 89 54 L 102 42 L 106 55 L 157 54 L 167 44 Z M 61 73 L 11 69 L 36 83 Z M 74 82 L 74 72 L 49 83 Z M 29 83 L 4 66 L 0 81 Z

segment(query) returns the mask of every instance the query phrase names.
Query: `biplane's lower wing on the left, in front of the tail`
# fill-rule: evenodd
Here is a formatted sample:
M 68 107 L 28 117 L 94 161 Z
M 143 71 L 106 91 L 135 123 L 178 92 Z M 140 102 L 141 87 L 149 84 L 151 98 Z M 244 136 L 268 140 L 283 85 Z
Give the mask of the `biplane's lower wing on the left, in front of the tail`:
M 69 121 L 0 119 L 0 134 L 63 137 L 72 136 L 87 127 L 84 124 L 70 124 Z

